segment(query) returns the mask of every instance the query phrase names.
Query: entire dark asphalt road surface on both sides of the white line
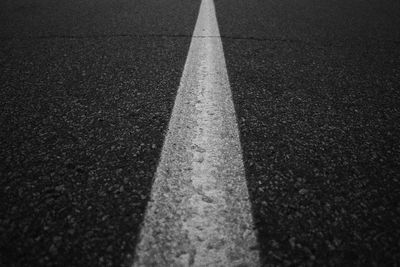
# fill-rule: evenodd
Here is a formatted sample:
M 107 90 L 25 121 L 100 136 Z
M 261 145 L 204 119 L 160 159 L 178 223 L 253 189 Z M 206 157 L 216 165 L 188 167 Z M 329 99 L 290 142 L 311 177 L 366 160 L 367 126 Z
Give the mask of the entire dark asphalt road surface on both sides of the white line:
M 215 0 L 261 262 L 400 264 L 400 2 Z M 0 266 L 133 262 L 200 0 L 0 2 Z

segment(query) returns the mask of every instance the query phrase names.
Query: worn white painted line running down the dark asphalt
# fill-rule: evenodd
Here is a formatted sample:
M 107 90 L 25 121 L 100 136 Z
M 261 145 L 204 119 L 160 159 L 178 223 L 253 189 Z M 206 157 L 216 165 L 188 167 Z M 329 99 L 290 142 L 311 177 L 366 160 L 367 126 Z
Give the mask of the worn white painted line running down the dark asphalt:
M 214 2 L 202 0 L 133 266 L 258 266 L 253 229 Z

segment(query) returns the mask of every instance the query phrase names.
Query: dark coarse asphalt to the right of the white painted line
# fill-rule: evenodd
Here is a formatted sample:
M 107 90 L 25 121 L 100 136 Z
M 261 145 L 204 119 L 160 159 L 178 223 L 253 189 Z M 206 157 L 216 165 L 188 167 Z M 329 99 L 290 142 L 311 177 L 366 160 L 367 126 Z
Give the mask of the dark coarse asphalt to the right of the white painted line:
M 216 1 L 265 266 L 400 262 L 398 1 Z

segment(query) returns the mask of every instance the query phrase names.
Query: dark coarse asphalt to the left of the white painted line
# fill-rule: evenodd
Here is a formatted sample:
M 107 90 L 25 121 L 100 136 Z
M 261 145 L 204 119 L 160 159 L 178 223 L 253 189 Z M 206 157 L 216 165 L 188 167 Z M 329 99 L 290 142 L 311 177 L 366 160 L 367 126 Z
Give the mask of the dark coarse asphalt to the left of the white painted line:
M 132 262 L 198 1 L 2 1 L 0 266 Z

